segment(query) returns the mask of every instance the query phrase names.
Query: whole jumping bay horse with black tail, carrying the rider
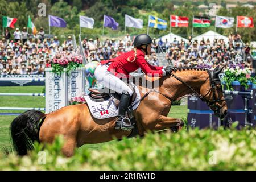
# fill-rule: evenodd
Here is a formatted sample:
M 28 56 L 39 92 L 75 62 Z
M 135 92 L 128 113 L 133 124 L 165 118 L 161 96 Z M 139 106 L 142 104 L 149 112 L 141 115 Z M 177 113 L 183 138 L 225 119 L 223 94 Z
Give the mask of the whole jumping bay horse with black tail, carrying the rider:
M 218 78 L 221 71 L 219 67 L 214 71 L 183 68 L 174 70 L 171 76 L 160 77 L 159 85 L 154 89 L 137 85 L 142 98 L 134 110 L 138 135 L 182 125 L 181 119 L 167 115 L 172 101 L 187 94 L 196 94 L 207 102 L 214 114 L 224 118 L 227 106 Z M 142 93 L 142 89 L 148 92 Z M 65 106 L 49 114 L 28 110 L 11 123 L 11 138 L 18 155 L 26 155 L 28 150 L 32 150 L 34 141 L 52 143 L 57 135 L 63 135 L 62 152 L 65 156 L 72 156 L 76 147 L 121 139 L 131 133 L 115 130 L 114 119 L 94 118 L 86 104 Z

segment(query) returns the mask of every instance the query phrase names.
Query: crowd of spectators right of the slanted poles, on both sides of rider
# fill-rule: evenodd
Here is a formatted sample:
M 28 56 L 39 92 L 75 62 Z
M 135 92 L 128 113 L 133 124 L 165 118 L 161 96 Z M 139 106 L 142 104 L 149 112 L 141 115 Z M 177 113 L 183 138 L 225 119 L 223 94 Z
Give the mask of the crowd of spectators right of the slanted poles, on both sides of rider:
M 177 41 L 176 38 L 172 42 L 168 42 L 167 39 L 163 42 L 153 38 L 151 55 L 146 56 L 146 59 L 152 65 L 159 65 L 157 55 L 162 51 L 165 54 L 164 59 L 174 67 L 195 67 L 197 65 L 207 68 L 214 68 L 217 65 L 228 67 L 229 64 L 239 62 L 243 63 L 245 67 L 251 68 L 249 43 L 243 46 L 240 38 L 239 34 L 230 34 L 228 43 L 224 39 L 214 39 L 213 42 L 210 42 L 209 39 L 202 39 L 199 42 L 192 40 L 191 36 L 187 42 Z M 131 51 L 133 39 L 134 37 L 131 38 L 129 34 L 123 39 L 106 39 L 104 42 L 101 42 L 99 38 L 96 40 L 84 38 L 82 46 L 86 59 L 101 61 Z

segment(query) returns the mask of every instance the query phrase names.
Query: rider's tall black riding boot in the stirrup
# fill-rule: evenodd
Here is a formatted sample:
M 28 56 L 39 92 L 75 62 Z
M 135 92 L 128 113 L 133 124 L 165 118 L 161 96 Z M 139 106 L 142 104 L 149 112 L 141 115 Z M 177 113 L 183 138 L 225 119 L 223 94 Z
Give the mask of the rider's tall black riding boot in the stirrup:
M 122 94 L 118 107 L 117 120 L 115 121 L 115 129 L 131 130 L 134 128 L 134 126 L 130 125 L 129 119 L 125 117 L 130 100 L 131 96 L 128 93 Z

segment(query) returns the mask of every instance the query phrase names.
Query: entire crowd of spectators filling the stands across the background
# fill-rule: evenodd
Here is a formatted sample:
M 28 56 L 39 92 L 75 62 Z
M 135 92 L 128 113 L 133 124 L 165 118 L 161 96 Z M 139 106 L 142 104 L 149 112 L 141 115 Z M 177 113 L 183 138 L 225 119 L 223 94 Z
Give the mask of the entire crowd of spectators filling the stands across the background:
M 133 49 L 132 43 L 135 36 L 126 36 L 122 39 L 99 38 L 82 40 L 85 57 L 88 61 L 109 60 Z M 153 39 L 151 55 L 146 60 L 152 65 L 159 65 L 158 53 L 162 52 L 169 65 L 174 67 L 228 67 L 235 62 L 243 63 L 251 68 L 249 43 L 245 46 L 240 42 L 239 34 L 230 34 L 229 42 L 223 39 L 183 40 L 168 42 L 168 40 Z M 160 49 L 159 49 L 160 48 Z M 43 74 L 44 68 L 51 65 L 51 58 L 56 53 L 74 51 L 71 36 L 61 44 L 55 36 L 53 39 L 46 37 L 43 28 L 36 35 L 27 33 L 26 27 L 20 32 L 19 28 L 13 35 L 6 29 L 0 40 L 0 74 Z

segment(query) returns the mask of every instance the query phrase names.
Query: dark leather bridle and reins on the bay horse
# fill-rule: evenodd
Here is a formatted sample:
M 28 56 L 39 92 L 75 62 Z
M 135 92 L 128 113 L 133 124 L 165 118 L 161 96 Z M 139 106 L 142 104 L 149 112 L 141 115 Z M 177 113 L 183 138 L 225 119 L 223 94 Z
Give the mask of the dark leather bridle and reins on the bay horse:
M 208 92 L 204 96 L 201 96 L 200 93 L 196 92 L 195 89 L 193 89 L 191 86 L 189 86 L 181 78 L 174 75 L 174 73 L 171 73 L 171 76 L 176 78 L 176 80 L 179 80 L 180 82 L 185 84 L 197 97 L 199 97 L 202 101 L 206 102 L 207 105 L 213 109 L 214 114 L 217 114 L 217 113 L 220 112 L 221 108 L 225 106 L 226 101 L 225 101 L 225 99 L 217 99 L 216 98 L 216 85 L 218 85 L 218 84 L 221 85 L 220 78 L 218 78 L 218 77 L 216 78 L 216 76 L 214 76 L 214 74 L 213 74 L 213 71 L 207 70 L 207 73 L 208 73 L 209 79 L 210 79 L 210 89 L 208 90 Z M 212 97 L 212 99 L 207 100 L 205 98 L 205 96 L 207 96 L 210 93 L 213 94 L 213 97 Z M 221 106 L 216 105 L 217 102 L 221 102 L 221 101 L 225 101 L 224 104 L 222 104 Z

